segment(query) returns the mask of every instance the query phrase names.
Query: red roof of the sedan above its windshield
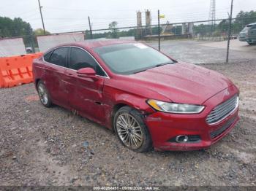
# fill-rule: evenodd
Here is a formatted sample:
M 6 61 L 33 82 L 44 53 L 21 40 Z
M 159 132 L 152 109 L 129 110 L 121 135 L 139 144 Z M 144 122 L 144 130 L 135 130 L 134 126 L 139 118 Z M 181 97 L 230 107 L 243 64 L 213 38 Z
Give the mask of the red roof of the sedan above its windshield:
M 84 47 L 87 49 L 92 49 L 94 47 L 103 47 L 108 46 L 111 44 L 124 44 L 124 43 L 132 43 L 135 42 L 135 40 L 123 40 L 123 39 L 91 39 L 91 40 L 85 40 L 82 42 L 70 42 L 61 44 L 58 47 L 61 46 L 76 46 L 76 47 Z

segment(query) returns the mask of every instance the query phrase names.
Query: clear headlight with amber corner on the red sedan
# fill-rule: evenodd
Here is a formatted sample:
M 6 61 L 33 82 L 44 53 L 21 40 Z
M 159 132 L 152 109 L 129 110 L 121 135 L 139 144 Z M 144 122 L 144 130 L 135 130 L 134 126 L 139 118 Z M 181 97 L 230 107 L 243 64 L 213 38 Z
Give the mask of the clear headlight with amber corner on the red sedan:
M 192 104 L 176 104 L 150 99 L 147 103 L 159 112 L 168 112 L 175 114 L 198 114 L 203 111 L 205 106 Z

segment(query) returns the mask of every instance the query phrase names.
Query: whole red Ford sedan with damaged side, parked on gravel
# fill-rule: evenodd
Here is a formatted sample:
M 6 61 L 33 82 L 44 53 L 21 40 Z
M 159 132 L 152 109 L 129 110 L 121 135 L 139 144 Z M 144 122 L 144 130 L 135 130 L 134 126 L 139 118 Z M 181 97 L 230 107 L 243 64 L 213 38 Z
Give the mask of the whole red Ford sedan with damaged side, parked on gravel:
M 135 41 L 63 44 L 35 60 L 33 73 L 44 106 L 104 125 L 136 152 L 204 149 L 239 118 L 227 77 Z

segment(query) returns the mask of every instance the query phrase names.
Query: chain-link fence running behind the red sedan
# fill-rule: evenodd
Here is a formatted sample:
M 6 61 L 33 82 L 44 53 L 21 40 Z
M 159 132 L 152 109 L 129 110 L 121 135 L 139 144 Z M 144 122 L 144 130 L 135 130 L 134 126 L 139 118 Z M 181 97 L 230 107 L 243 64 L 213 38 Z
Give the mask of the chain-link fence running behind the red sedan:
M 148 44 L 151 44 L 156 48 L 160 47 L 163 52 L 166 52 L 169 55 L 173 55 L 174 58 L 181 58 L 182 61 L 189 61 L 192 63 L 214 63 L 225 62 L 225 48 L 227 48 L 226 41 L 228 39 L 228 31 L 231 30 L 230 39 L 237 39 L 236 41 L 238 41 L 239 32 L 247 24 L 256 23 L 256 17 L 232 19 L 231 28 L 229 23 L 230 19 L 225 18 L 210 21 L 198 20 L 189 23 L 165 23 L 160 24 L 159 26 L 129 26 L 121 28 L 102 28 L 86 31 L 72 31 L 67 33 L 49 34 L 49 36 L 82 33 L 84 36 L 83 39 L 85 40 L 135 39 L 137 41 L 148 42 Z M 23 38 L 27 53 L 42 51 L 40 50 L 39 43 L 37 42 L 37 36 L 31 34 L 29 36 L 18 37 Z M 214 42 L 219 42 L 221 44 L 214 44 Z M 159 43 L 161 44 L 160 46 Z M 203 58 L 204 56 L 212 57 L 212 52 L 218 52 L 217 59 L 214 60 Z M 188 58 L 187 55 L 191 55 L 191 57 L 194 55 L 195 58 L 202 59 L 193 60 Z M 251 55 L 249 55 L 249 57 L 250 56 Z M 235 53 L 231 52 L 230 57 L 231 61 L 237 60 Z

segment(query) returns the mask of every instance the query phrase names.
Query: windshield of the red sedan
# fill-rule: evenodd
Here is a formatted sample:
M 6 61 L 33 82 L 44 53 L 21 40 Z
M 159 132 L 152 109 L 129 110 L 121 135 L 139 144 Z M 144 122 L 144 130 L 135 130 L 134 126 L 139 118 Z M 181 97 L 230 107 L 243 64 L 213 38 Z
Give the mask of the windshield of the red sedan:
M 135 74 L 157 66 L 175 63 L 175 61 L 141 43 L 113 44 L 96 47 L 100 58 L 116 74 Z

